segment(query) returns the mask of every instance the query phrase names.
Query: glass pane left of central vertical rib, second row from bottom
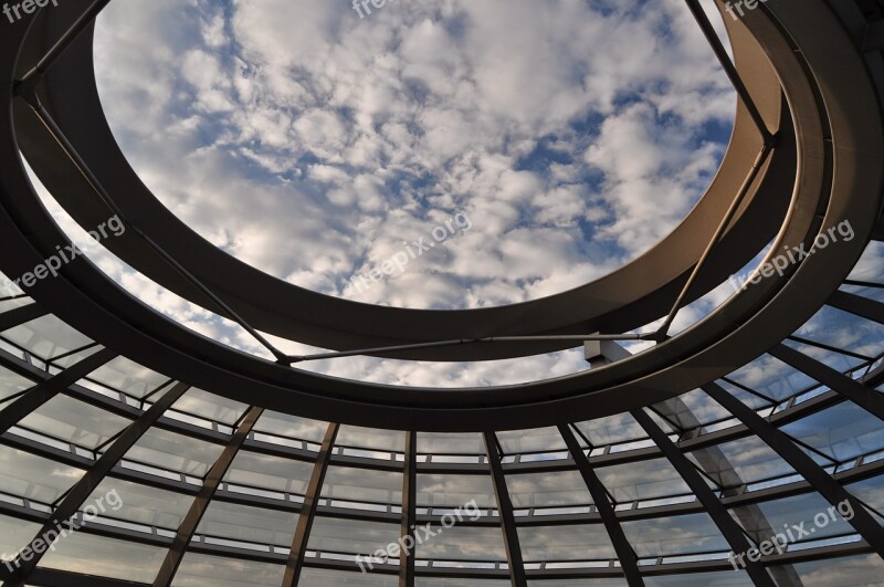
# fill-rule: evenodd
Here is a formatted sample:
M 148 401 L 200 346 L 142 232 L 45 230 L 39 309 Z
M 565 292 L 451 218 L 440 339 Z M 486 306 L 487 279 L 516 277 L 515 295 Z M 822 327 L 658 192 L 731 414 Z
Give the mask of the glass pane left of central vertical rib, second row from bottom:
M 317 515 L 307 548 L 362 556 L 399 542 L 399 524 L 382 524 Z

